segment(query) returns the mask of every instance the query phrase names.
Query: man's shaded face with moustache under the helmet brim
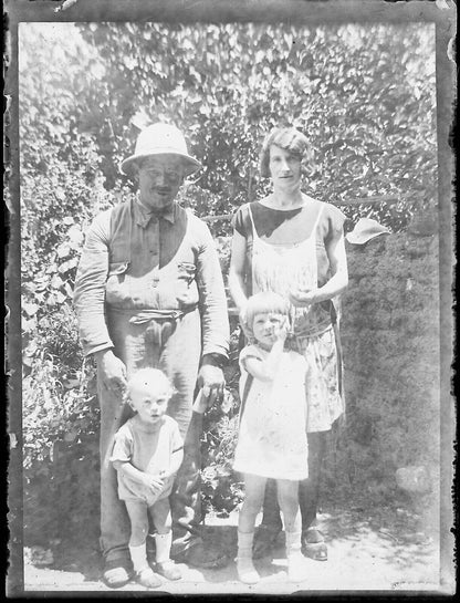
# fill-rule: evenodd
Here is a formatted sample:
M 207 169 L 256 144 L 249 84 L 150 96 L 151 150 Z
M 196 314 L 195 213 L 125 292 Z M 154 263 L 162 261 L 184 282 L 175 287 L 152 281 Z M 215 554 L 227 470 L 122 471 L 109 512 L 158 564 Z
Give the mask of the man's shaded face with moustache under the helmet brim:
M 147 157 L 138 168 L 140 202 L 149 209 L 171 205 L 184 181 L 184 164 L 177 155 Z

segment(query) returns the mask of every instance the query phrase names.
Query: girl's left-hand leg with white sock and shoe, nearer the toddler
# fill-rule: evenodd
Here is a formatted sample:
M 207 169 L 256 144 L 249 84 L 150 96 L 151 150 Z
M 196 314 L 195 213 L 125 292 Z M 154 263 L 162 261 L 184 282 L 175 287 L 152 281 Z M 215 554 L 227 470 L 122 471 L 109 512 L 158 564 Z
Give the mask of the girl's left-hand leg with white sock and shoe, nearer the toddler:
M 262 507 L 266 478 L 244 475 L 244 502 L 238 520 L 238 578 L 245 584 L 260 580 L 252 563 L 252 541 L 254 539 L 255 518 Z

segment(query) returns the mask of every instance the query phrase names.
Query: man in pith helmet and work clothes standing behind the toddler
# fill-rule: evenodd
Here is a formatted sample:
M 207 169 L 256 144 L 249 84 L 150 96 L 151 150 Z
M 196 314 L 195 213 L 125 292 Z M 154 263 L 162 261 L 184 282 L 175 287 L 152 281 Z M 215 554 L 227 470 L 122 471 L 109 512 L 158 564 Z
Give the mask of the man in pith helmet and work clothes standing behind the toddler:
M 218 566 L 224 557 L 203 547 L 200 522 L 198 386 L 209 404 L 223 389 L 229 325 L 219 259 L 208 227 L 176 201 L 185 177 L 201 166 L 182 134 L 154 124 L 138 136 L 121 166 L 138 183 L 136 199 L 96 216 L 83 249 L 74 301 L 82 345 L 97 363 L 101 404 L 101 545 L 104 579 L 130 579 L 129 523 L 118 500 L 109 456 L 113 437 L 129 417 L 126 378 L 146 366 L 161 368 L 176 394 L 168 413 L 185 439 L 185 460 L 171 495 L 172 557 Z

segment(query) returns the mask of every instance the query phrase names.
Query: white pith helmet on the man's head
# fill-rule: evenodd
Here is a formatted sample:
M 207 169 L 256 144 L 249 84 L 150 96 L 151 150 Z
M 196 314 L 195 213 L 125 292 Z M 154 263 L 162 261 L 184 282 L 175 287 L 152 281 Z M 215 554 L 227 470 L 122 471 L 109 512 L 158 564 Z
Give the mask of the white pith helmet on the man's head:
M 201 164 L 188 154 L 182 133 L 176 126 L 158 123 L 140 132 L 134 155 L 122 162 L 119 168 L 126 176 L 132 176 L 133 167 L 139 159 L 165 154 L 179 155 L 182 158 L 186 176 L 201 167 Z

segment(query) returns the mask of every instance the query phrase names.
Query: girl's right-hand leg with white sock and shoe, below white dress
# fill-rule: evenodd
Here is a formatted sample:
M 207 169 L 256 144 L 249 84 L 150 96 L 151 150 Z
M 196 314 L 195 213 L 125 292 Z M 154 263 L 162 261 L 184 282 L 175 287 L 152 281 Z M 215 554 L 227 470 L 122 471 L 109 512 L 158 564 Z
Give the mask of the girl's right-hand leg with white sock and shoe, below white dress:
M 283 513 L 286 533 L 288 575 L 300 582 L 305 578 L 301 553 L 302 520 L 299 509 L 299 481 L 278 479 L 278 501 Z

